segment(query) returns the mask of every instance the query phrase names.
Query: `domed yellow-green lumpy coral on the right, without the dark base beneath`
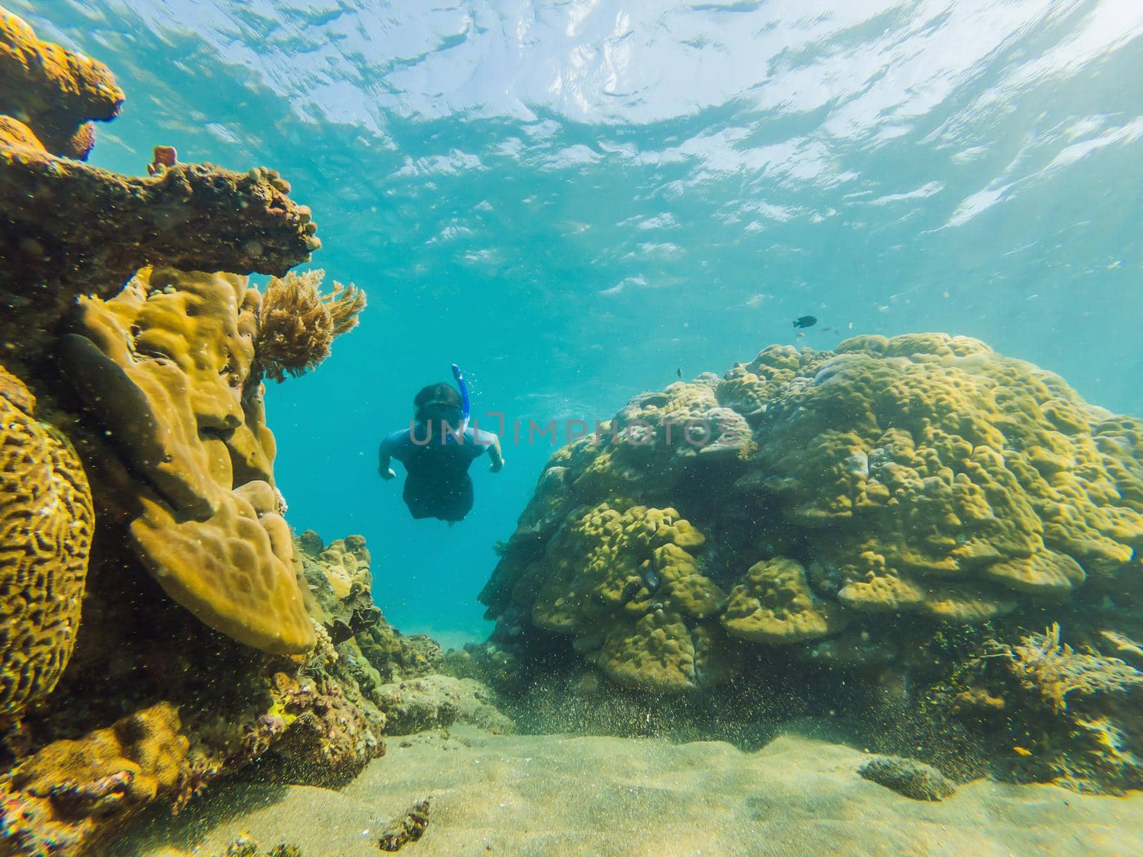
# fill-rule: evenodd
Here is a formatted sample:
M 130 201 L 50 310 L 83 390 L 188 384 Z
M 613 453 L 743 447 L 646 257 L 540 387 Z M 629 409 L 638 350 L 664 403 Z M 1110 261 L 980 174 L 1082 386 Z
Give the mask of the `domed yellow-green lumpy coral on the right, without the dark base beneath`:
M 975 339 L 770 346 L 606 428 L 552 456 L 481 599 L 628 683 L 726 675 L 700 642 L 730 665 L 856 625 L 872 650 L 894 644 L 877 615 L 1141 594 L 1143 422 Z

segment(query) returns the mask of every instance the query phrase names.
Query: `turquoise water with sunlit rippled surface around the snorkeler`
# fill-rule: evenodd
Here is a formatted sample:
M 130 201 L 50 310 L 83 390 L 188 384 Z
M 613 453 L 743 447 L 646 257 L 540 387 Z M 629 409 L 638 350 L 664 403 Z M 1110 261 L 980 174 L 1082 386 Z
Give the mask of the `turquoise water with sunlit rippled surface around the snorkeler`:
M 127 91 L 93 163 L 274 167 L 313 265 L 368 291 L 269 422 L 291 522 L 365 535 L 403 630 L 485 631 L 552 451 L 529 419 L 591 424 L 678 369 L 942 330 L 1143 415 L 1137 0 L 7 6 Z M 376 447 L 454 361 L 478 417 L 525 428 L 448 528 Z

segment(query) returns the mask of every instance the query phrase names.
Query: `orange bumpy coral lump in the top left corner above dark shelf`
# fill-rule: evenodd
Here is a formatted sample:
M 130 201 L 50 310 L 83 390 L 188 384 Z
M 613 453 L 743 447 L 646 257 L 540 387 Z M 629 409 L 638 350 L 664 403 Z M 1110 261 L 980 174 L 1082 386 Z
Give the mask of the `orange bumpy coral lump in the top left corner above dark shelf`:
M 0 113 L 30 127 L 48 152 L 86 160 L 95 144 L 88 120 L 114 119 L 123 99 L 103 63 L 40 41 L 0 8 Z

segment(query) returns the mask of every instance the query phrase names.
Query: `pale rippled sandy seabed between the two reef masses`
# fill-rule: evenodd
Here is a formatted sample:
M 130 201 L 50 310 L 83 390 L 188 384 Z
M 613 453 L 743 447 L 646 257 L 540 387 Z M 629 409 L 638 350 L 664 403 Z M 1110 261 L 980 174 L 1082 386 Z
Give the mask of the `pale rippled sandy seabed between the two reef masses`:
M 1143 794 L 975 780 L 928 803 L 861 778 L 868 759 L 801 735 L 746 753 L 459 727 L 390 738 L 389 754 L 339 791 L 219 787 L 178 819 L 138 825 L 113 854 L 211 855 L 247 833 L 304 857 L 377 857 L 381 830 L 429 798 L 427 831 L 402 855 L 1143 855 Z

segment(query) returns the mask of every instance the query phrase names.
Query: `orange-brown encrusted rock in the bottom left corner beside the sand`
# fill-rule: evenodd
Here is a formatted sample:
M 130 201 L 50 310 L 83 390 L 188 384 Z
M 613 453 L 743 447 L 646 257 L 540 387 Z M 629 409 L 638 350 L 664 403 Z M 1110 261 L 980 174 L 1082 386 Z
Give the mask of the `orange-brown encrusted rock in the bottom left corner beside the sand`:
M 169 703 L 49 744 L 0 778 L 0 852 L 96 854 L 157 795 L 175 792 L 189 746 Z

